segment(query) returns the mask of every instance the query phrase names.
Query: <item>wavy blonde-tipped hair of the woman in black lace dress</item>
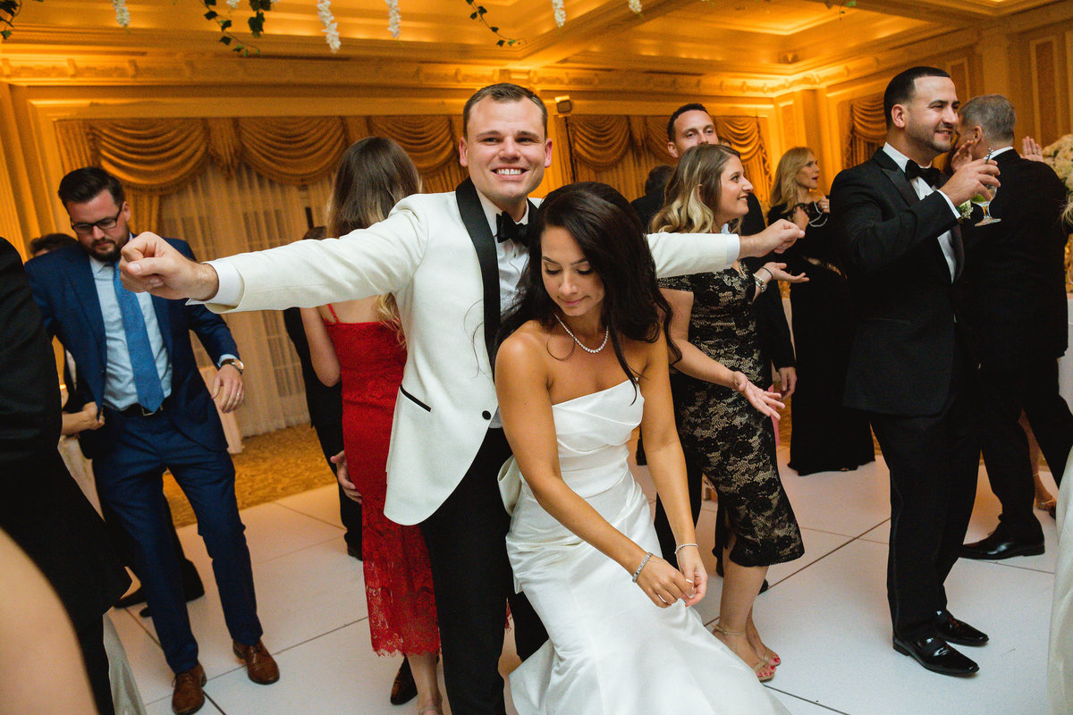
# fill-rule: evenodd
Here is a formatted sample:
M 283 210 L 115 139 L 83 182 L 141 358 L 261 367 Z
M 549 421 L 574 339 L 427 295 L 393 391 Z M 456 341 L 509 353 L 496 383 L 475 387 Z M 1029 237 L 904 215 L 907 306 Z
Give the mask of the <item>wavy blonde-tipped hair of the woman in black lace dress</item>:
M 719 178 L 731 157 L 740 159 L 741 154 L 721 144 L 699 144 L 687 149 L 667 182 L 663 208 L 652 217 L 652 233 L 718 232 L 715 209 L 722 189 Z M 731 232 L 737 230 L 740 221 L 738 218 L 731 222 Z

